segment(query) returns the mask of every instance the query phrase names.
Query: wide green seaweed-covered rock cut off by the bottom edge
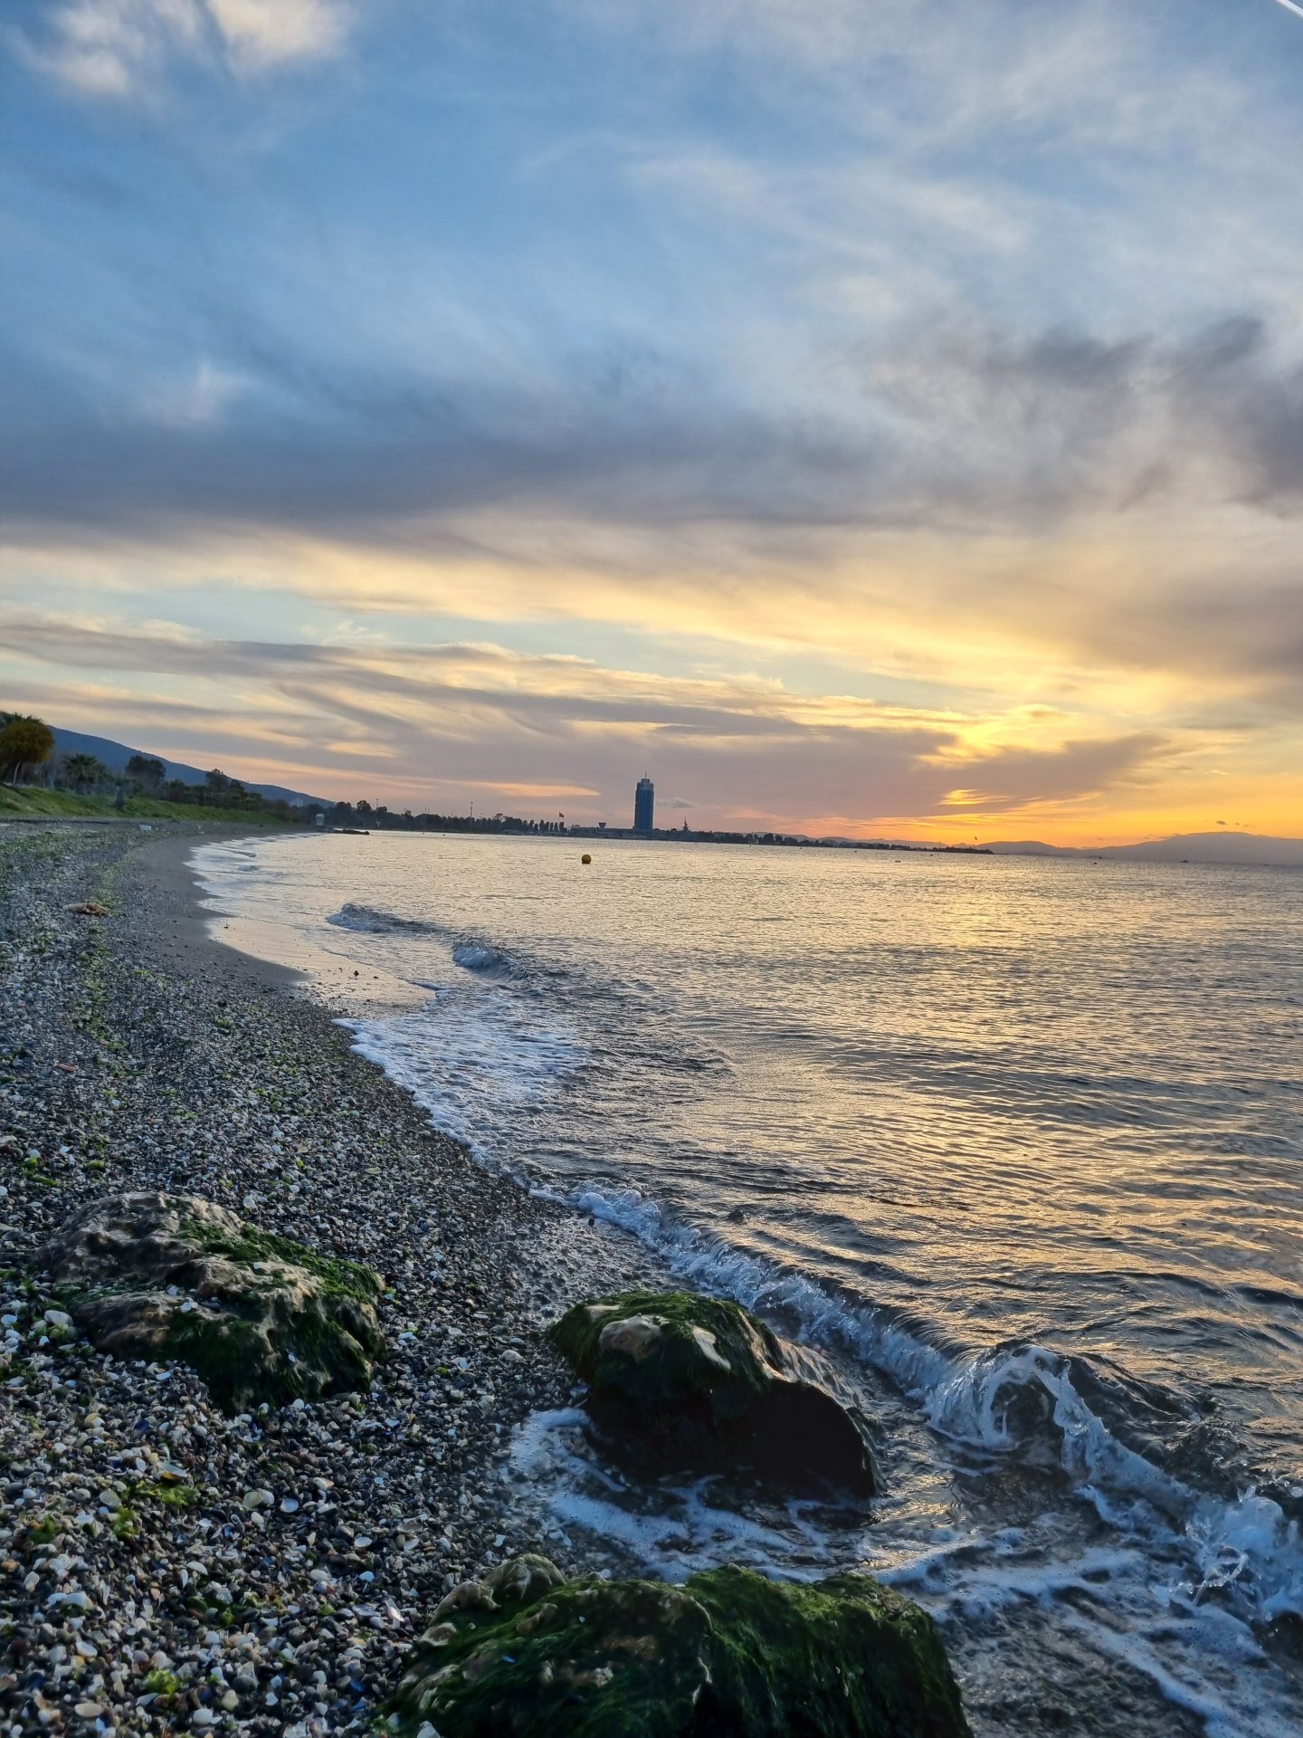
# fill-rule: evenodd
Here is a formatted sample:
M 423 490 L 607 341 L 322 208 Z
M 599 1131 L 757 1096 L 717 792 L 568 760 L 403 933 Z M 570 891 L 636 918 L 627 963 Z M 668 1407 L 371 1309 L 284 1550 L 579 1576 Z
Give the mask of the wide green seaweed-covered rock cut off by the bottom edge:
M 936 1625 L 877 1582 L 563 1583 L 542 1557 L 455 1589 L 391 1708 L 426 1738 L 968 1738 Z

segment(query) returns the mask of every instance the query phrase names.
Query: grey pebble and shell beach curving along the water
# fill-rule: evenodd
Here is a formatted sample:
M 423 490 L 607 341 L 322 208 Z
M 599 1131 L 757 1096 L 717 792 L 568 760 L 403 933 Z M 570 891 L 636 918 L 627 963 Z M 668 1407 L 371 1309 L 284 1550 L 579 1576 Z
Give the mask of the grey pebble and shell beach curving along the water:
M 478 1166 L 295 972 L 214 939 L 196 843 L 0 826 L 0 1707 L 24 1731 L 365 1729 L 455 1582 L 525 1550 L 587 1568 L 506 1489 L 507 1443 L 570 1396 L 544 1321 L 653 1269 Z M 382 1274 L 370 1392 L 228 1418 L 184 1366 L 42 1345 L 36 1250 L 139 1189 Z M 132 1495 L 167 1465 L 188 1507 Z M 250 1514 L 252 1486 L 274 1507 Z

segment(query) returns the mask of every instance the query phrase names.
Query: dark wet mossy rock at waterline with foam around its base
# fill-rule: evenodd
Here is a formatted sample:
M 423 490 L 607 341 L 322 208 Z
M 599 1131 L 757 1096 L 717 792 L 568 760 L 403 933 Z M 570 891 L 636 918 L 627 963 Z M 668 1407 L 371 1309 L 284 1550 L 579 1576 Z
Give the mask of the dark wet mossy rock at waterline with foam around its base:
M 877 1489 L 863 1427 L 810 1380 L 815 1359 L 728 1298 L 622 1291 L 577 1304 L 549 1337 L 589 1383 L 596 1422 L 638 1458 Z

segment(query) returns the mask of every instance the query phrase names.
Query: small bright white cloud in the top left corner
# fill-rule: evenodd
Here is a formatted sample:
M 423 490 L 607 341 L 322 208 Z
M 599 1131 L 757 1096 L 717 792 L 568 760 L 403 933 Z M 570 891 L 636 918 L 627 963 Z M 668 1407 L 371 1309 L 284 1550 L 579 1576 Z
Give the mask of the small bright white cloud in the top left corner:
M 257 75 L 335 54 L 346 0 L 63 0 L 17 43 L 87 97 L 155 94 L 177 66 Z

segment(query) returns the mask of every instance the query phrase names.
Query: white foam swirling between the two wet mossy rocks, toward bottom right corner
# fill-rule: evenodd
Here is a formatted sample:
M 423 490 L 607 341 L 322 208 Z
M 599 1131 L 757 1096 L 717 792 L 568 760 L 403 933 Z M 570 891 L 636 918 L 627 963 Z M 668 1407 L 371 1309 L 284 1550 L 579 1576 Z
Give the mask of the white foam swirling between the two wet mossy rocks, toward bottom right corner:
M 573 1547 L 573 1535 L 589 1549 L 601 1543 L 624 1573 L 629 1561 L 674 1582 L 721 1561 L 780 1580 L 869 1571 L 947 1623 L 961 1672 L 968 1635 L 994 1625 L 1008 1637 L 1025 1611 L 1053 1609 L 1058 1632 L 1075 1639 L 1084 1679 L 1091 1662 L 1117 1660 L 1173 1707 L 1202 1719 L 1209 1738 L 1298 1738 L 1291 1688 L 1270 1668 L 1251 1627 L 1155 1580 L 1150 1542 L 1074 1549 L 1060 1536 L 1060 1521 L 1044 1516 L 992 1533 L 933 1521 L 926 1542 L 910 1543 L 881 1516 L 830 1524 L 815 1505 L 764 1505 L 754 1495 L 745 1507 L 730 1507 L 719 1481 L 650 1488 L 625 1481 L 589 1444 L 577 1408 L 532 1415 L 513 1436 L 509 1467 L 559 1543 Z M 973 1646 L 983 1653 L 987 1644 Z M 1237 1688 L 1246 1668 L 1247 1695 Z

